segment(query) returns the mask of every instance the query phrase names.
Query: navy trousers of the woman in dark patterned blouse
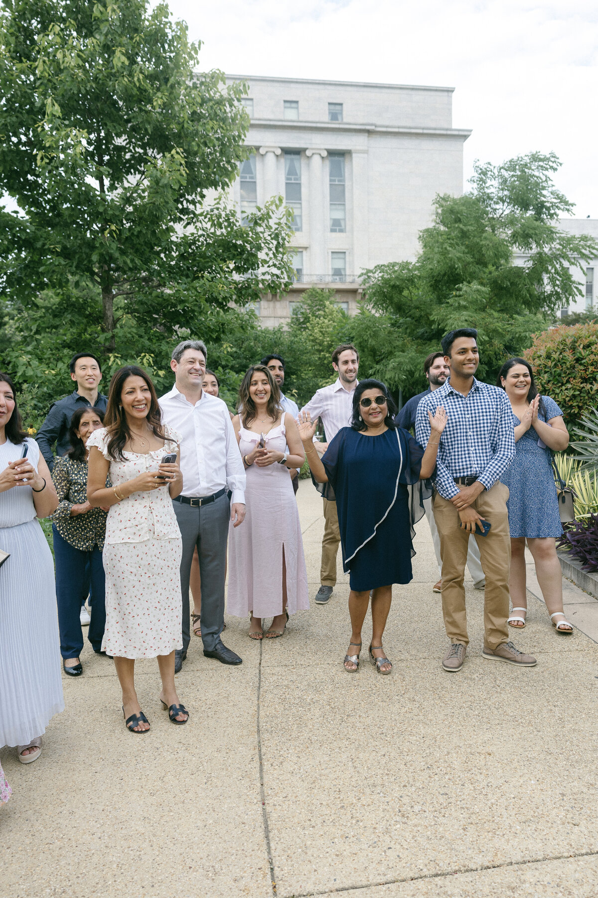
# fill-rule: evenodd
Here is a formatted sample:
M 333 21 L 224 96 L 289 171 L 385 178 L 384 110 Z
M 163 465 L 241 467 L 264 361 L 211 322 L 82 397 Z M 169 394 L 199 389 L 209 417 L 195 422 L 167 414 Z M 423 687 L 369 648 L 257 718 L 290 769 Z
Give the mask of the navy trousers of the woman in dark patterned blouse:
M 60 654 L 63 658 L 78 658 L 83 647 L 83 631 L 79 616 L 81 597 L 87 577 L 91 579 L 93 603 L 91 623 L 87 638 L 94 652 L 101 649 L 106 625 L 106 577 L 101 552 L 97 546 L 89 551 L 75 549 L 52 524 L 54 557 L 56 559 L 56 600 L 58 603 L 58 628 L 60 629 Z M 86 574 L 86 568 L 89 573 Z

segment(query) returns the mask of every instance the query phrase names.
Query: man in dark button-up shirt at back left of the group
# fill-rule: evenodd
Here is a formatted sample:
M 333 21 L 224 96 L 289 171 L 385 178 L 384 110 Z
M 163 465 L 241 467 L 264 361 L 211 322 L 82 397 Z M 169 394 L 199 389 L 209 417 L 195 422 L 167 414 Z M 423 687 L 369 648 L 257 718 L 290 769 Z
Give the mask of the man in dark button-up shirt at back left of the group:
M 68 431 L 74 411 L 82 405 L 106 411 L 107 398 L 98 392 L 101 380 L 100 361 L 89 352 L 80 352 L 71 359 L 69 367 L 71 379 L 77 384 L 77 389 L 70 396 L 65 396 L 65 399 L 52 403 L 46 420 L 35 437 L 50 471 L 54 467 L 53 445 L 56 443 L 56 455 L 68 452 Z

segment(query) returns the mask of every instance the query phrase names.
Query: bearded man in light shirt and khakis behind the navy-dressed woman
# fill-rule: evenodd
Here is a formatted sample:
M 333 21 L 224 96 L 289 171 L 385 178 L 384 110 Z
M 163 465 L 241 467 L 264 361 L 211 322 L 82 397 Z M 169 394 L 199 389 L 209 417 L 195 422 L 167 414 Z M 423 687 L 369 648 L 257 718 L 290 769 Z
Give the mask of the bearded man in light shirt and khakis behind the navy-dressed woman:
M 357 372 L 360 354 L 352 343 L 337 346 L 333 353 L 333 368 L 338 378 L 330 386 L 322 387 L 308 401 L 301 412 L 309 412 L 312 421 L 320 418 L 324 425 L 326 443 L 314 441 L 317 452 L 322 455 L 328 443 L 334 439 L 341 427 L 349 427 L 353 417 L 353 392 L 359 383 Z M 325 605 L 336 585 L 336 556 L 341 533 L 339 532 L 336 502 L 324 499 L 324 537 L 322 538 L 322 567 L 320 568 L 320 588 L 316 593 L 316 604 Z

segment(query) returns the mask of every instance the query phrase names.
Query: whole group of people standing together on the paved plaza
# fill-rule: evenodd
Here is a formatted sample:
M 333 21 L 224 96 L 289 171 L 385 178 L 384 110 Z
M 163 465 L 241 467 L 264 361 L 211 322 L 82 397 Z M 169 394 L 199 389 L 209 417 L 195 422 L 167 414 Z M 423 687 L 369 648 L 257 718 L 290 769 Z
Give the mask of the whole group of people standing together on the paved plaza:
M 476 338 L 471 329 L 447 334 L 442 352 L 426 359 L 428 390 L 398 414 L 384 383 L 358 381 L 351 344 L 334 350 L 337 380 L 300 412 L 281 389 L 282 357 L 265 357 L 243 378 L 235 416 L 218 398 L 200 340 L 173 350 L 175 384 L 160 400 L 135 365 L 119 369 L 101 395 L 99 360 L 79 354 L 71 362 L 77 389 L 56 402 L 37 442 L 22 429 L 13 381 L 0 373 L 0 549 L 10 553 L 0 571 L 0 744 L 16 745 L 23 763 L 39 757 L 49 719 L 64 708 L 58 644 L 65 674 L 82 674 L 88 594 L 91 646 L 114 658 L 135 734 L 151 727 L 135 691 L 137 658 L 158 659 L 158 698 L 178 726 L 189 711 L 175 674 L 192 630 L 204 656 L 242 663 L 221 639 L 227 563 L 229 613 L 248 619 L 249 638 L 281 638 L 290 614 L 309 607 L 294 498 L 306 459 L 324 498 L 316 603 L 333 594 L 339 543 L 350 574 L 347 673 L 360 666 L 370 602 L 368 655 L 379 674 L 391 673 L 383 635 L 392 585 L 412 579 L 413 526 L 424 514 L 450 640 L 444 669 L 460 670 L 468 645 L 465 564 L 485 590 L 482 656 L 535 665 L 508 626 L 525 625 L 527 540 L 550 619 L 559 633 L 572 632 L 559 591 L 562 528 L 550 469 L 550 452 L 567 447 L 568 433 L 523 359 L 503 366 L 497 386 L 476 380 Z M 325 441 L 316 438 L 318 420 Z M 48 515 L 56 588 L 37 520 Z

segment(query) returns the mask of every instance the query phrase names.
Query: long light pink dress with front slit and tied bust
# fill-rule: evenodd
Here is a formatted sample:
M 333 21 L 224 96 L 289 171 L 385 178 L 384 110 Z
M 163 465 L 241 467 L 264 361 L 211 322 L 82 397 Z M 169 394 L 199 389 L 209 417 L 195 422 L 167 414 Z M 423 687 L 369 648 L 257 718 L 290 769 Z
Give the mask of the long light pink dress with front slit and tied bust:
M 285 452 L 285 415 L 265 437 L 268 449 Z M 241 455 L 256 446 L 260 435 L 241 427 Z M 282 547 L 287 568 L 287 611 L 309 608 L 308 572 L 305 567 L 299 512 L 289 470 L 281 464 L 246 471 L 247 514 L 229 529 L 229 593 L 227 611 L 237 617 L 273 617 L 282 614 Z

